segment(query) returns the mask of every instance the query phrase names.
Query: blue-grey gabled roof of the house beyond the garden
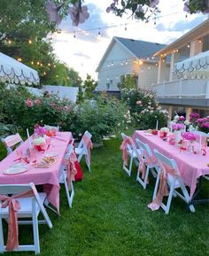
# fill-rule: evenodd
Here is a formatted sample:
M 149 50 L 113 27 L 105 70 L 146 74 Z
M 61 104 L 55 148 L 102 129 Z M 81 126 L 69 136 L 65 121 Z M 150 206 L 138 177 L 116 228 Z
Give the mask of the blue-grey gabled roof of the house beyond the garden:
M 100 66 L 102 66 L 104 59 L 107 57 L 109 51 L 112 49 L 114 43 L 120 43 L 120 45 L 122 45 L 125 50 L 128 50 L 130 54 L 133 55 L 133 58 L 142 59 L 151 58 L 156 51 L 165 48 L 166 46 L 166 44 L 161 43 L 151 43 L 142 40 L 113 36 L 111 43 L 109 44 L 107 50 L 104 52 L 104 56 L 97 66 L 97 72 L 100 69 Z

